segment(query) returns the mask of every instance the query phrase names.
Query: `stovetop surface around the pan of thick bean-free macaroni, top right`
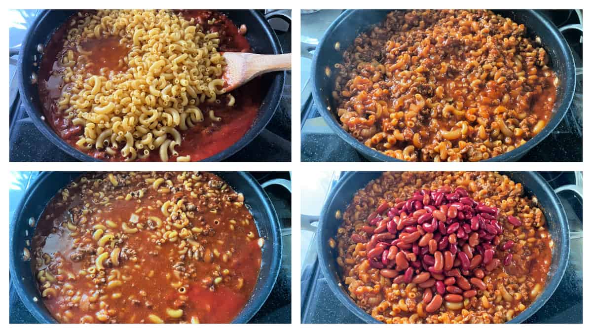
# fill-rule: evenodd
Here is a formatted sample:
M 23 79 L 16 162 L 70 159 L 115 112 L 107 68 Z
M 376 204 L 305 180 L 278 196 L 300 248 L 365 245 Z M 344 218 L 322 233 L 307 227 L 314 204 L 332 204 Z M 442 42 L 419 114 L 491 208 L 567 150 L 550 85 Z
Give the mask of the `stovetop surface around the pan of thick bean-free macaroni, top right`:
M 582 67 L 583 48 L 581 44 L 582 33 L 575 28 L 569 28 L 571 24 L 580 24 L 580 19 L 574 10 L 545 10 L 543 11 L 558 27 L 568 27 L 564 32 L 565 39 L 570 44 L 574 55 L 575 66 Z M 318 11 L 303 15 L 301 21 L 303 34 L 301 40 L 314 44 L 323 36 L 324 30 L 332 23 L 340 11 Z M 304 28 L 307 27 L 307 28 Z M 303 69 L 301 70 L 301 91 L 303 92 L 301 105 L 301 160 L 311 161 L 368 161 L 360 155 L 352 146 L 340 139 L 332 129 L 327 126 L 320 116 L 317 106 L 310 94 L 310 59 L 301 57 Z M 556 129 L 526 153 L 520 161 L 544 162 L 544 161 L 582 161 L 582 114 L 583 114 L 583 77 L 577 75 L 575 95 L 570 109 Z

